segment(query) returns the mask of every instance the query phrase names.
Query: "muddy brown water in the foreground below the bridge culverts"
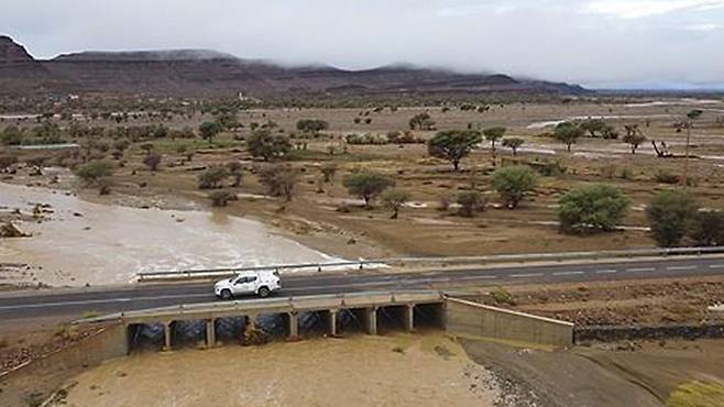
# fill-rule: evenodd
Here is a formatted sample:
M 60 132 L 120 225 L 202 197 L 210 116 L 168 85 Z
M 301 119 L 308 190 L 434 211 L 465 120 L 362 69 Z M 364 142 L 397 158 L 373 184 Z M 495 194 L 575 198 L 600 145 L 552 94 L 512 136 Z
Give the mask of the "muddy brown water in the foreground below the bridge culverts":
M 498 397 L 491 373 L 439 334 L 143 353 L 68 385 L 58 406 L 492 406 Z

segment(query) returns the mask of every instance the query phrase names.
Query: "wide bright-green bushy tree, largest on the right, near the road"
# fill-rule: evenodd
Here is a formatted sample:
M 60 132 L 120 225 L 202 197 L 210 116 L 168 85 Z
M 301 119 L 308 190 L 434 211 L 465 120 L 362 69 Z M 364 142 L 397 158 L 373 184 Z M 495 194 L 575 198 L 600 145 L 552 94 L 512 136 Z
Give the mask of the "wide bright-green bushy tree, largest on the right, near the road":
M 558 219 L 567 233 L 608 232 L 621 223 L 630 200 L 621 189 L 603 184 L 568 191 L 559 201 Z

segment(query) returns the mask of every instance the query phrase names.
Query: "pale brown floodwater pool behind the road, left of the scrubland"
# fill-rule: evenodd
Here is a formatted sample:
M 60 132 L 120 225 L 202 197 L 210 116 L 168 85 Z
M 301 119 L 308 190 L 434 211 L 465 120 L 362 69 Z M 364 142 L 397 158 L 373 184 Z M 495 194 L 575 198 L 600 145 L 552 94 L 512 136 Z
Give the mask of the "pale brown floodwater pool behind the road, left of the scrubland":
M 0 184 L 0 209 L 32 213 L 32 238 L 0 240 L 0 263 L 42 267 L 33 283 L 129 283 L 138 272 L 334 261 L 266 226 L 221 212 L 92 204 L 69 193 Z

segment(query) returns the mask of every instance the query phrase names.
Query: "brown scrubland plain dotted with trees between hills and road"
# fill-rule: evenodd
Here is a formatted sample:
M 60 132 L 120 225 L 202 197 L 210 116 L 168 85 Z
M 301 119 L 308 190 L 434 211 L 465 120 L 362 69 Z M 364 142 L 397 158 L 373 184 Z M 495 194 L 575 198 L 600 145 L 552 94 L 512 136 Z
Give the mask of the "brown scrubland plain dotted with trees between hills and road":
M 101 195 L 202 190 L 231 212 L 305 219 L 420 254 L 724 242 L 709 227 L 724 223 L 721 166 L 699 156 L 724 150 L 724 129 L 718 116 L 685 107 L 632 120 L 618 119 L 627 108 L 613 99 L 362 110 L 118 103 L 37 105 L 3 118 L 4 178 L 65 167 L 75 187 Z M 272 199 L 245 198 L 256 195 Z

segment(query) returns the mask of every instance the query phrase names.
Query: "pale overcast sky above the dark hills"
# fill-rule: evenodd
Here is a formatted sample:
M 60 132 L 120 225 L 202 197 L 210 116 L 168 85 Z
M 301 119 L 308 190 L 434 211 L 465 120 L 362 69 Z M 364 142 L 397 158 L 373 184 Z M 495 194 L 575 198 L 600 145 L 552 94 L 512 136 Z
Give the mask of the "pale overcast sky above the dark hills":
M 724 0 L 2 0 L 35 57 L 212 48 L 368 68 L 412 63 L 590 87 L 724 87 Z

